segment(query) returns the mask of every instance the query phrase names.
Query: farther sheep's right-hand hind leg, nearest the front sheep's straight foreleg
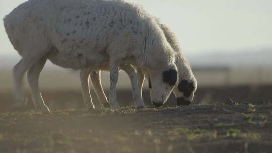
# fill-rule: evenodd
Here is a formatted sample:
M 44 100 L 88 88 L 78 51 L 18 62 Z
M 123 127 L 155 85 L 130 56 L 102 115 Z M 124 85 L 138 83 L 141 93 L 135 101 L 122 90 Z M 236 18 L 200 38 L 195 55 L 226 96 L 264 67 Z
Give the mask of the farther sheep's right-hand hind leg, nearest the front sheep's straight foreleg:
M 91 80 L 92 80 L 94 90 L 100 104 L 104 106 L 105 108 L 110 108 L 107 96 L 105 95 L 102 84 L 101 84 L 100 70 L 94 70 L 93 72 L 91 72 Z

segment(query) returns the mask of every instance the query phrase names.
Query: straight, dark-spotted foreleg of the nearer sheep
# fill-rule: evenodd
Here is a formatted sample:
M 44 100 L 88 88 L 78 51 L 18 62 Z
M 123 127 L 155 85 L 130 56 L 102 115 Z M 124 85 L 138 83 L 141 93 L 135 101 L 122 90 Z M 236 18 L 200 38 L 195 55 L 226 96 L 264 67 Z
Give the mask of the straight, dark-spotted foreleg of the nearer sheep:
M 116 84 L 119 75 L 120 60 L 110 60 L 109 69 L 110 69 L 110 92 L 109 92 L 109 104 L 112 109 L 119 109 L 120 106 L 116 98 Z

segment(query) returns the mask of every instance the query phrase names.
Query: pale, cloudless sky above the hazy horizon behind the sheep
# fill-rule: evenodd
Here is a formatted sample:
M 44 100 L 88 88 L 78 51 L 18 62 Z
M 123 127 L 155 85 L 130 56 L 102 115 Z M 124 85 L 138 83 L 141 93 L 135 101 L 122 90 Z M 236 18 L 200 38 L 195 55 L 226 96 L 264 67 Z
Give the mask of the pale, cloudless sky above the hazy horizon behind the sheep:
M 46 1 L 46 0 L 44 0 Z M 177 35 L 185 54 L 272 48 L 270 0 L 131 0 L 159 17 Z M 16 55 L 3 18 L 25 0 L 0 1 L 0 53 Z

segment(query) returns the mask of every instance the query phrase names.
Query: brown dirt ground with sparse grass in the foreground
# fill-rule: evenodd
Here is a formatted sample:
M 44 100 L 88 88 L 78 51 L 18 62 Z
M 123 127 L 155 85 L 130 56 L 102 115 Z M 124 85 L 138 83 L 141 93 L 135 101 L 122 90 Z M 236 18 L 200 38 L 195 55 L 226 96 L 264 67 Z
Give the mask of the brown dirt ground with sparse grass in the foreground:
M 272 152 L 271 103 L 0 114 L 0 152 Z

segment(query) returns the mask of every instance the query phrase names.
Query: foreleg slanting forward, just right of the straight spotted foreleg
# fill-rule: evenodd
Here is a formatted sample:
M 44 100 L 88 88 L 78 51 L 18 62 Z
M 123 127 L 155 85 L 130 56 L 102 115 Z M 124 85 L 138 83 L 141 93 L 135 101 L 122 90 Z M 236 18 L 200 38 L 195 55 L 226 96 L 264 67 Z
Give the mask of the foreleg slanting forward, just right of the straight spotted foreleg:
M 142 100 L 142 94 L 138 86 L 136 70 L 131 65 L 121 65 L 120 68 L 124 70 L 130 78 L 135 108 L 145 108 L 145 103 Z

